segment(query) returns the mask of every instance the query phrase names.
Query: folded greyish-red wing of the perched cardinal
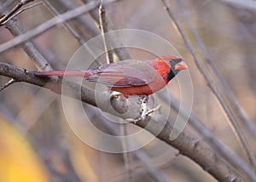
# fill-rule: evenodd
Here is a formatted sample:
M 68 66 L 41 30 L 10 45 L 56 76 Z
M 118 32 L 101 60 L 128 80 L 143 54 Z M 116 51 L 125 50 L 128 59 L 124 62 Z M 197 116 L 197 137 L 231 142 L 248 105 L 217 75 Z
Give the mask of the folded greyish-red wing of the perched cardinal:
M 155 71 L 143 61 L 120 61 L 111 66 L 103 65 L 96 74 L 87 77 L 90 82 L 99 82 L 110 87 L 142 86 L 154 80 Z

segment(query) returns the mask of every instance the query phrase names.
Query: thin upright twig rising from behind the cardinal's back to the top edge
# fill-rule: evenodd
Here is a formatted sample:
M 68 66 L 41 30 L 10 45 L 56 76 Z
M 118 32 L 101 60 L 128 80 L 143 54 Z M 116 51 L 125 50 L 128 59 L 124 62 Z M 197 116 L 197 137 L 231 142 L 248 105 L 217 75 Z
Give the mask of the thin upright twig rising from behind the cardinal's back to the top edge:
M 109 52 L 108 43 L 106 41 L 105 33 L 108 32 L 108 23 L 106 21 L 106 9 L 103 6 L 103 0 L 101 0 L 101 5 L 99 7 L 99 21 L 100 21 L 100 31 L 102 33 L 103 45 L 106 53 L 107 63 L 113 63 L 113 56 Z

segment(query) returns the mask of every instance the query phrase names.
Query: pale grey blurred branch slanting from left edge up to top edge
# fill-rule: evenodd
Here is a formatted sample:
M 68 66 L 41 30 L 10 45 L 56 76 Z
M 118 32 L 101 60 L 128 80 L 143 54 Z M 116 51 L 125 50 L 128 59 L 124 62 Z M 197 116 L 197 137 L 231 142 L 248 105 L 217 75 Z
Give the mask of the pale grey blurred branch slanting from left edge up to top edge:
M 117 0 L 106 0 L 104 4 L 107 3 L 113 3 Z M 0 45 L 0 54 L 4 51 L 8 50 L 9 48 L 13 48 L 17 45 L 20 45 L 20 43 L 24 43 L 27 40 L 37 37 L 38 35 L 44 33 L 45 31 L 49 30 L 51 27 L 56 25 L 61 25 L 67 20 L 71 20 L 81 14 L 85 14 L 91 9 L 95 9 L 99 5 L 99 1 L 93 1 L 90 3 L 87 3 L 85 5 L 80 6 L 79 8 L 73 9 L 68 11 L 67 13 L 60 14 L 59 16 L 52 18 L 51 20 L 46 21 L 44 24 L 37 26 L 33 28 L 31 31 L 26 31 L 26 33 L 13 38 L 12 40 L 3 43 Z

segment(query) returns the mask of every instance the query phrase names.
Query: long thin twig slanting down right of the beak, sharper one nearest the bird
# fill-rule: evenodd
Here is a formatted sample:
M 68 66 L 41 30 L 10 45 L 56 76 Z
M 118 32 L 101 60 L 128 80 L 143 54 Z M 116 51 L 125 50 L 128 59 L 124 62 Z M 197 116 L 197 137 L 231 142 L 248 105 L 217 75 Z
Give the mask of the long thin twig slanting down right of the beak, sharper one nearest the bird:
M 230 111 L 229 105 L 227 105 L 226 101 L 224 100 L 223 95 L 218 90 L 217 85 L 215 84 L 215 82 L 213 82 L 212 77 L 208 74 L 205 65 L 202 64 L 199 56 L 196 54 L 195 48 L 193 48 L 192 43 L 190 43 L 190 41 L 189 41 L 189 37 L 186 36 L 185 32 L 183 31 L 183 28 L 177 22 L 177 19 L 174 16 L 174 14 L 172 13 L 172 9 L 170 9 L 170 6 L 168 5 L 167 1 L 166 0 L 162 0 L 162 2 L 164 4 L 164 6 L 165 6 L 167 14 L 169 14 L 169 16 L 172 18 L 172 21 L 174 22 L 175 26 L 177 27 L 178 32 L 183 37 L 183 41 L 184 41 L 185 45 L 187 46 L 187 48 L 189 48 L 190 53 L 195 58 L 195 64 L 197 65 L 198 69 L 201 71 L 202 75 L 207 80 L 208 86 L 211 88 L 212 93 L 216 96 L 216 98 L 217 98 L 218 102 L 220 103 L 220 105 L 222 105 L 226 115 L 229 118 L 230 127 L 232 128 L 233 132 L 236 134 L 236 138 L 238 139 L 239 143 L 241 144 L 241 148 L 243 149 L 243 151 L 245 151 L 245 153 L 246 153 L 246 155 L 248 157 L 249 162 L 251 162 L 254 170 L 256 171 L 256 159 L 255 159 L 255 156 L 253 155 L 251 147 L 248 144 L 245 135 L 241 131 L 240 126 L 236 122 L 236 118 L 233 116 L 232 111 Z

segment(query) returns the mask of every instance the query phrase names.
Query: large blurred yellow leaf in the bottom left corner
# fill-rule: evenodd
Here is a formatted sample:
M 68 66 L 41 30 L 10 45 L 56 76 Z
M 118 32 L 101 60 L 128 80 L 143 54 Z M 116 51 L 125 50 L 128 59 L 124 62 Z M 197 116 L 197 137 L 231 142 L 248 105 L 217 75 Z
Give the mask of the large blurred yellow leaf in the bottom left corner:
M 0 117 L 0 181 L 46 182 L 49 176 L 32 146 Z

